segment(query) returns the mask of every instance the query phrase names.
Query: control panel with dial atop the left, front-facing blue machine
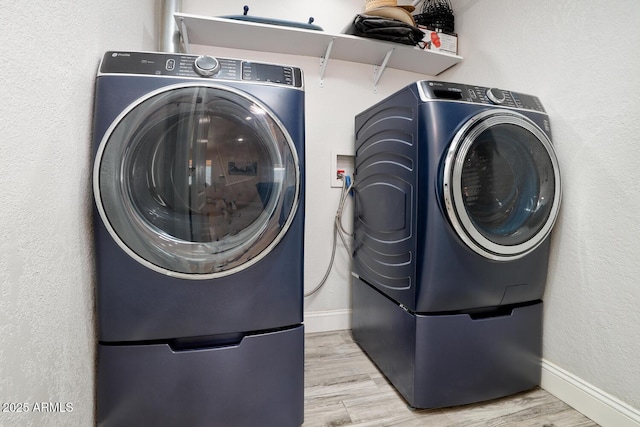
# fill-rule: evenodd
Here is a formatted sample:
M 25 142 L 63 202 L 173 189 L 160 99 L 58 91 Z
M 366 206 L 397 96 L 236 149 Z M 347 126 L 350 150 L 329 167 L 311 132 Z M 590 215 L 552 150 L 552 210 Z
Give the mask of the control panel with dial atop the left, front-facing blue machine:
M 99 74 L 190 77 L 302 87 L 302 71 L 297 67 L 182 53 L 107 52 L 100 63 Z

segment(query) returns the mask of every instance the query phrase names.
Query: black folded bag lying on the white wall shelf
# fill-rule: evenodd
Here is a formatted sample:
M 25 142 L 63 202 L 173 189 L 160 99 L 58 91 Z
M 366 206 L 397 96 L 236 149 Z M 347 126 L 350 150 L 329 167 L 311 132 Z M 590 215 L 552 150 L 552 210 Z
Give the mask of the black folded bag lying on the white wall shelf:
M 352 30 L 352 34 L 356 36 L 412 46 L 421 42 L 424 36 L 424 33 L 413 25 L 398 21 L 397 19 L 369 15 L 356 15 Z

